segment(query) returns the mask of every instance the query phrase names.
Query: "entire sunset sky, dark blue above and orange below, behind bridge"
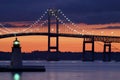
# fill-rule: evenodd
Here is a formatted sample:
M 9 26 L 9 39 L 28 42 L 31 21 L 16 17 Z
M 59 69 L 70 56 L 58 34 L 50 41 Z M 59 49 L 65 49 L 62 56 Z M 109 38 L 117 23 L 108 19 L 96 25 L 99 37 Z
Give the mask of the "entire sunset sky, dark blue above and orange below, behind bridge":
M 120 0 L 0 0 L 0 23 L 17 31 L 18 26 L 32 24 L 48 8 L 56 8 L 61 9 L 78 26 L 79 32 L 85 30 L 83 34 L 119 36 L 119 4 Z M 66 24 L 70 26 L 69 23 Z M 61 30 L 66 30 L 62 24 L 60 27 Z M 27 36 L 18 39 L 23 52 L 47 50 L 47 36 Z M 14 38 L 0 39 L 0 51 L 11 51 L 13 40 Z M 112 51 L 120 51 L 120 43 L 112 45 Z M 82 39 L 61 37 L 60 51 L 82 51 Z M 96 42 L 95 51 L 103 51 L 103 43 Z

